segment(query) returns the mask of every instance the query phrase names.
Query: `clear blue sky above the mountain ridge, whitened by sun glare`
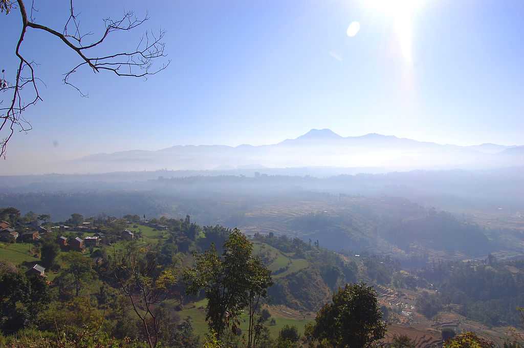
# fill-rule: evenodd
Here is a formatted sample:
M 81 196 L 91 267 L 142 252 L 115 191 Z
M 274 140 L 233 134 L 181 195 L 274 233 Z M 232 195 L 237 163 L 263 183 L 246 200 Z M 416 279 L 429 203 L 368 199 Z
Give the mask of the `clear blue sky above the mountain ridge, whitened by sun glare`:
M 63 28 L 69 1 L 35 1 L 36 22 Z M 80 26 L 133 9 L 143 26 L 104 52 L 166 30 L 168 69 L 144 79 L 79 71 L 56 37 L 28 29 L 43 102 L 25 113 L 2 166 L 180 144 L 271 144 L 312 128 L 470 145 L 524 141 L 524 2 L 76 1 Z M 16 72 L 16 10 L 2 14 L 2 69 Z M 159 61 L 159 63 L 162 61 Z M 42 83 L 43 83 L 42 82 Z M 0 99 L 6 99 L 1 96 Z M 23 159 L 23 160 L 22 160 Z

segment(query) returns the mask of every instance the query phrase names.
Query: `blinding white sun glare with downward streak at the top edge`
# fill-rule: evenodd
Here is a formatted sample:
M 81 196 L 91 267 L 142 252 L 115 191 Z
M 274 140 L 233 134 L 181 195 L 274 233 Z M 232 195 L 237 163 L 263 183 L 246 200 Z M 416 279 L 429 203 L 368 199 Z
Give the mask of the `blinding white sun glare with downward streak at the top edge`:
M 373 8 L 394 21 L 402 57 L 412 62 L 412 18 L 414 12 L 423 3 L 423 0 L 367 0 L 368 7 Z

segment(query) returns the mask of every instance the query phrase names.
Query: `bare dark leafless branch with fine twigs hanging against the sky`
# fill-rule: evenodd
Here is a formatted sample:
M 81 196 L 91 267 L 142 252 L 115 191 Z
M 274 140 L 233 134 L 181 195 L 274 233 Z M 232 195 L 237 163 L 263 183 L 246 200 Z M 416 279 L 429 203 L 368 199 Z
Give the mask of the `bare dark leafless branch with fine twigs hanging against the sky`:
M 24 41 L 27 28 L 42 30 L 57 37 L 77 54 L 81 62 L 66 72 L 62 81 L 65 85 L 77 90 L 82 97 L 86 97 L 87 94 L 75 86 L 70 81 L 70 78 L 73 73 L 84 66 L 89 66 L 95 73 L 107 71 L 116 76 L 143 77 L 146 79 L 147 76 L 155 75 L 169 66 L 170 61 L 168 60 L 167 63 L 165 62 L 159 67 L 152 68 L 157 58 L 166 57 L 165 43 L 162 41 L 165 31 L 162 29 L 159 30 L 158 35 L 146 31 L 134 50 L 117 52 L 106 56 L 91 56 L 89 54 L 90 49 L 101 45 L 114 31 L 129 31 L 146 22 L 149 19 L 147 14 L 142 19 L 137 18 L 133 12 L 125 13 L 122 18 L 117 20 L 105 18 L 103 19 L 105 30 L 102 36 L 92 43 L 84 45 L 84 38 L 86 36 L 92 36 L 93 33 L 81 33 L 78 14 L 74 12 L 73 0 L 70 0 L 69 7 L 69 18 L 67 22 L 65 22 L 62 33 L 60 33 L 57 30 L 35 22 L 33 15 L 34 12 L 38 11 L 34 7 L 34 2 L 31 3 L 30 15 L 28 17 L 24 0 L 0 0 L 0 9 L 2 12 L 10 13 L 12 9 L 18 8 L 22 21 L 22 29 L 20 30 L 20 36 L 15 49 L 15 55 L 19 59 L 15 82 L 12 86 L 9 86 L 4 76 L 0 79 L 0 92 L 11 93 L 9 106 L 0 108 L 0 131 L 7 132 L 7 135 L 0 139 L 0 157 L 4 157 L 4 159 L 7 143 L 12 138 L 15 130 L 27 132 L 32 129 L 30 123 L 23 118 L 23 112 L 26 111 L 28 107 L 34 106 L 38 101 L 42 101 L 37 86 L 37 81 L 41 82 L 41 80 L 35 76 L 36 64 L 34 61 L 28 61 L 20 53 L 20 47 Z M 25 87 L 30 87 L 34 92 L 34 95 L 29 97 L 28 101 L 23 101 L 20 93 Z M 2 102 L 3 100 L 0 100 L 0 104 L 2 104 Z

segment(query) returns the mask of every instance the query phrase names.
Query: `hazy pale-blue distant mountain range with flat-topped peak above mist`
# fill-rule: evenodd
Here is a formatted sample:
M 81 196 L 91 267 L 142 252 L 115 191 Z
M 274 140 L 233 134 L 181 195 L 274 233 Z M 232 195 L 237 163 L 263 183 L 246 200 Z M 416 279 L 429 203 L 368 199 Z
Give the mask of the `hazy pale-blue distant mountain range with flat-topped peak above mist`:
M 524 164 L 524 146 L 459 146 L 370 133 L 343 137 L 312 129 L 271 145 L 176 145 L 157 151 L 99 153 L 62 162 L 60 172 L 228 170 L 285 167 L 412 169 L 490 168 Z

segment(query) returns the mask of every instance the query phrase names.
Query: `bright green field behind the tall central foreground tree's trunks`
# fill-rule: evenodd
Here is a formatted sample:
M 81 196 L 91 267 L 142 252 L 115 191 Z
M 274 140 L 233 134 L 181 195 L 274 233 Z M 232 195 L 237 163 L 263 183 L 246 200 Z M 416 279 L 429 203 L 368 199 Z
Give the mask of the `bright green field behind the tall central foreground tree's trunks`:
M 185 317 L 191 317 L 193 321 L 194 332 L 195 334 L 200 335 L 201 337 L 203 337 L 206 333 L 208 333 L 208 330 L 209 330 L 208 323 L 206 323 L 205 321 L 206 303 L 207 303 L 207 300 L 201 300 L 198 302 L 194 302 L 190 305 L 187 305 L 187 307 L 191 306 L 192 308 L 187 308 L 187 309 L 184 309 L 178 312 L 181 319 Z M 285 325 L 297 326 L 299 333 L 303 334 L 304 325 L 310 322 L 310 320 L 283 317 L 281 314 L 278 314 L 275 311 L 272 311 L 271 308 L 269 308 L 269 312 L 271 312 L 271 318 L 274 318 L 276 321 L 275 325 L 269 325 L 269 321 L 267 322 L 269 332 L 273 338 L 276 338 L 278 336 L 278 333 Z M 240 328 L 242 329 L 243 333 L 247 332 L 247 329 L 248 329 L 247 313 L 241 316 Z

